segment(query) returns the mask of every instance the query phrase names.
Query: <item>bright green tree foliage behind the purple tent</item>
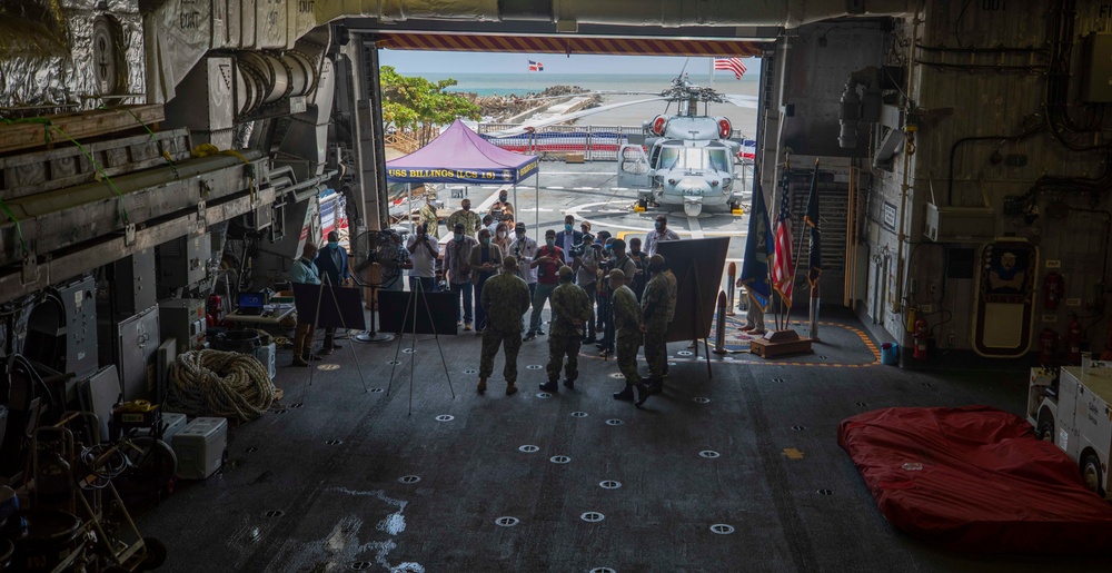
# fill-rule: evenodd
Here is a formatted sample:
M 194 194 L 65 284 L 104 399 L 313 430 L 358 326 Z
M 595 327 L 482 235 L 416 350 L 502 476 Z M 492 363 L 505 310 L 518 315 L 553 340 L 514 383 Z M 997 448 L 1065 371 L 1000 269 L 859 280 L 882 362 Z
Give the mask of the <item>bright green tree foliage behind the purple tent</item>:
M 445 88 L 458 83 L 454 79 L 429 81 L 419 76 L 401 76 L 393 66 L 379 69 L 383 85 L 383 120 L 401 131 L 416 132 L 420 144 L 436 126 L 451 124 L 456 118 L 477 120 L 479 108 Z

